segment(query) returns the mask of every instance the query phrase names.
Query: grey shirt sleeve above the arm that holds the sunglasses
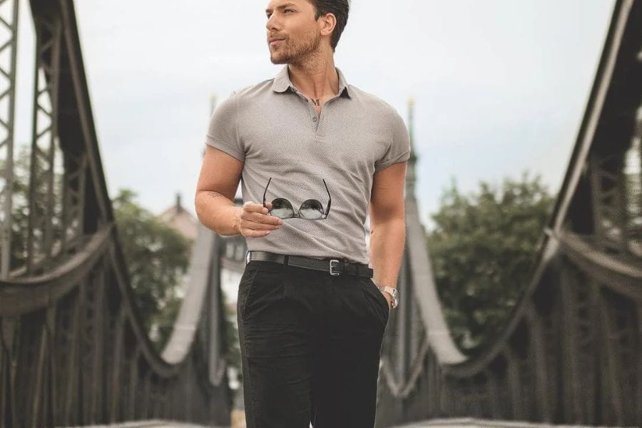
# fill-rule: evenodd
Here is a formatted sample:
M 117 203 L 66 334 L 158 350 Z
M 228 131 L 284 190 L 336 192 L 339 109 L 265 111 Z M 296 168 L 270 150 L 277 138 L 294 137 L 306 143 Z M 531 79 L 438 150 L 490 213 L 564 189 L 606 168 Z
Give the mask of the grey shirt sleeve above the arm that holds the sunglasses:
M 218 148 L 238 161 L 245 162 L 245 148 L 238 138 L 237 95 L 232 95 L 221 101 L 210 116 L 208 132 L 205 134 L 205 144 Z

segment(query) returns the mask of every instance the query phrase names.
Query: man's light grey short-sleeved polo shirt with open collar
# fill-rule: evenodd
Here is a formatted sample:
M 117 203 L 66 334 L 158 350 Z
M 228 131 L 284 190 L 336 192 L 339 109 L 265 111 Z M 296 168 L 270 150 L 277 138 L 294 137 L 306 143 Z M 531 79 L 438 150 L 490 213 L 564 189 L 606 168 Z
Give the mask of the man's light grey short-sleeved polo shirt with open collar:
M 372 175 L 407 161 L 410 142 L 399 113 L 347 83 L 336 67 L 339 92 L 317 115 L 292 85 L 288 66 L 268 80 L 233 91 L 210 117 L 205 143 L 243 162 L 243 202 L 287 198 L 295 210 L 307 199 L 327 208 L 322 220 L 288 218 L 248 250 L 370 263 L 365 242 Z

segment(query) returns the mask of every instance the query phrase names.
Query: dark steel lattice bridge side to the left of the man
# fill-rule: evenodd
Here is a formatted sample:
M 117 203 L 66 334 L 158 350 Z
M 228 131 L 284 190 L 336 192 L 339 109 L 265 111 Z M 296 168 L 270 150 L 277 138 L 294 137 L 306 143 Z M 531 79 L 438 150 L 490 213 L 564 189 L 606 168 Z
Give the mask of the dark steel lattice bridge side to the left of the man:
M 227 425 L 218 268 L 205 260 L 217 240 L 200 231 L 188 298 L 159 355 L 116 234 L 73 1 L 29 4 L 36 64 L 28 190 L 14 170 L 18 0 L 0 3 L 11 6 L 0 16 L 11 34 L 0 46 L 11 58 L 0 70 L 9 82 L 0 93 L 9 110 L 0 118 L 0 426 Z

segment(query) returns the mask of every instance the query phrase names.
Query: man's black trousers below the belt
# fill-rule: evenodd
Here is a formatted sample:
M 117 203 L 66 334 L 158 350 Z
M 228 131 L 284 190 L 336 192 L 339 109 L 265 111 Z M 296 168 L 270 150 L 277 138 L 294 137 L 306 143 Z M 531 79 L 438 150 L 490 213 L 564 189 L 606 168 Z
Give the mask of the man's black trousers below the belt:
M 370 278 L 250 260 L 237 300 L 247 427 L 374 427 L 388 316 Z

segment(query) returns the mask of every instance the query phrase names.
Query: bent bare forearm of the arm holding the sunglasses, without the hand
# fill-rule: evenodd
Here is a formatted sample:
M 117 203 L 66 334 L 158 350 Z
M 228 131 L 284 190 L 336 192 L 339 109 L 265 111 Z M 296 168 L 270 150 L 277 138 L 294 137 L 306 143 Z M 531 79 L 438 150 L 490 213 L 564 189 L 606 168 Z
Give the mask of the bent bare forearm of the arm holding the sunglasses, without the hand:
M 233 201 L 225 195 L 210 191 L 200 190 L 195 198 L 196 216 L 200 223 L 213 230 L 218 235 L 238 235 L 237 213 L 243 210 L 234 205 Z

